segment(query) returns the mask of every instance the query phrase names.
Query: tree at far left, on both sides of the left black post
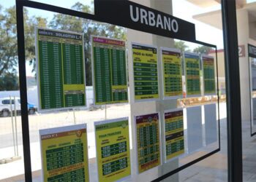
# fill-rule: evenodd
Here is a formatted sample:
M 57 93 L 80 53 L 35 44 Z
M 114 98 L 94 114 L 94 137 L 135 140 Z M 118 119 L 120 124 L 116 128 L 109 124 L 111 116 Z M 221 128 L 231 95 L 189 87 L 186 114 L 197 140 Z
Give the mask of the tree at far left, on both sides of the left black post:
M 24 9 L 24 32 L 26 60 L 32 60 L 34 55 L 34 25 L 46 25 L 46 20 L 40 17 L 29 17 L 28 11 Z M 18 43 L 16 28 L 15 6 L 2 10 L 0 7 L 0 78 L 17 77 L 18 73 Z M 13 89 L 18 87 L 18 82 L 9 82 Z M 2 85 L 0 85 L 3 88 Z M 11 86 L 8 86 L 11 88 Z

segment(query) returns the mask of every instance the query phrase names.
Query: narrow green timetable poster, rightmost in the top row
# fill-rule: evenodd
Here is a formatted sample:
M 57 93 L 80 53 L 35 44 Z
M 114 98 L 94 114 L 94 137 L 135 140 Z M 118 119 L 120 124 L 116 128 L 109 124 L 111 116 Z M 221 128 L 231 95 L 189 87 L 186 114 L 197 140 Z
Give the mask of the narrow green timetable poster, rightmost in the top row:
M 205 95 L 216 94 L 214 58 L 202 55 L 203 60 L 203 90 Z

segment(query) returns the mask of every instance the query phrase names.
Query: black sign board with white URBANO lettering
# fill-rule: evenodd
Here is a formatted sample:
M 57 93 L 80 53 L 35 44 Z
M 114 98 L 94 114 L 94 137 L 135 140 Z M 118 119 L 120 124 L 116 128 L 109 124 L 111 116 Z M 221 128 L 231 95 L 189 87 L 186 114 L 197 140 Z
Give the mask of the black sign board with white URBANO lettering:
M 97 19 L 173 39 L 196 41 L 195 25 L 132 1 L 94 0 Z

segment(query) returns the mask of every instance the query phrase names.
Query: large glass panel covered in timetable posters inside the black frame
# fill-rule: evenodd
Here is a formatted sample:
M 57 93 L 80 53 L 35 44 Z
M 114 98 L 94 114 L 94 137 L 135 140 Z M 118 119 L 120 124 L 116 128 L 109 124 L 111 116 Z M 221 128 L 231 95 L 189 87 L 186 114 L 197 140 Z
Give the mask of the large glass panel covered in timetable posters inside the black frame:
M 41 151 L 41 147 L 44 145 L 42 143 L 45 143 L 43 139 L 52 138 L 47 134 L 42 137 L 42 133 L 51 133 L 50 129 L 56 127 L 87 124 L 91 181 L 97 181 L 98 174 L 105 177 L 110 173 L 118 174 L 116 171 L 127 168 L 129 159 L 131 172 L 129 177 L 123 180 L 140 181 L 143 179 L 144 181 L 151 181 L 170 172 L 170 170 L 175 170 L 219 149 L 217 59 L 216 50 L 213 47 L 154 36 L 150 33 L 127 30 L 116 25 L 53 12 L 31 8 L 26 8 L 26 11 L 29 15 L 30 12 L 39 15 L 39 18 L 31 17 L 33 19 L 26 22 L 28 27 L 25 28 L 25 34 L 31 35 L 25 36 L 28 40 L 25 44 L 26 60 L 28 60 L 26 70 L 28 71 L 27 75 L 30 76 L 27 79 L 29 83 L 27 86 L 28 101 L 34 105 L 35 110 L 38 110 L 36 114 L 29 115 L 31 165 L 34 180 L 42 180 L 42 173 L 40 173 L 42 162 L 46 161 L 48 163 L 43 164 L 53 167 L 43 168 L 45 171 L 48 170 L 48 173 L 50 170 L 53 172 L 56 169 L 56 165 L 53 165 L 56 161 L 50 163 L 51 158 L 45 160 L 45 157 L 50 156 Z M 36 27 L 39 28 L 34 29 Z M 59 103 L 59 97 L 63 97 L 65 100 L 64 98 L 70 92 L 74 96 L 78 92 L 73 91 L 83 90 L 79 84 L 68 84 L 65 81 L 67 76 L 70 76 L 72 81 L 72 71 L 80 68 L 79 66 L 72 67 L 72 63 L 81 58 L 78 58 L 77 55 L 80 52 L 79 49 L 73 47 L 79 44 L 80 38 L 77 37 L 80 35 L 83 36 L 84 41 L 84 57 L 81 57 L 83 57 L 86 67 L 86 106 L 66 107 L 65 103 L 61 101 L 61 105 L 53 106 L 54 109 L 53 107 L 45 109 L 42 103 L 48 97 L 55 95 L 48 99 L 48 102 Z M 35 41 L 35 36 L 38 37 L 36 49 L 32 43 Z M 122 47 L 123 42 L 126 44 L 125 49 Z M 187 47 L 187 50 L 181 50 L 180 44 Z M 211 54 L 197 52 L 196 48 L 203 48 Z M 39 60 L 36 60 L 36 53 L 39 54 Z M 127 63 L 124 59 L 127 59 Z M 67 68 L 72 68 L 71 71 L 67 71 L 65 68 L 68 63 L 67 60 L 70 62 L 70 66 Z M 51 65 L 49 66 L 49 64 Z M 62 69 L 59 69 L 60 67 Z M 122 70 L 119 71 L 118 68 L 122 68 Z M 124 79 L 126 71 L 129 80 L 128 89 Z M 44 74 L 43 77 L 42 74 Z M 75 72 L 75 76 L 77 74 L 78 71 Z M 56 82 L 55 79 L 61 81 Z M 46 83 L 45 80 L 48 82 Z M 174 82 L 176 87 L 172 85 Z M 56 86 L 56 83 L 59 85 Z M 44 87 L 42 84 L 45 84 Z M 39 85 L 41 87 L 38 87 Z M 50 92 L 49 87 L 55 90 Z M 56 96 L 57 88 L 61 90 L 61 93 L 63 92 L 63 95 Z M 42 89 L 44 90 L 42 91 Z M 94 90 L 97 95 L 94 94 Z M 129 103 L 126 100 L 125 90 L 129 94 Z M 46 91 L 49 92 L 48 96 L 42 100 L 42 93 L 46 95 Z M 99 96 L 102 97 L 101 100 L 97 99 Z M 115 100 L 118 99 L 125 102 L 115 103 Z M 94 100 L 101 104 L 94 105 Z M 114 103 L 108 104 L 110 101 Z M 127 141 L 129 153 L 126 153 L 127 158 L 118 159 L 118 161 L 113 161 L 114 163 L 102 164 L 100 165 L 102 168 L 100 168 L 99 162 L 97 162 L 99 157 L 109 157 L 109 151 L 111 156 L 117 155 L 111 153 L 116 148 L 116 143 L 111 143 L 108 140 L 114 135 L 120 135 L 120 132 L 117 129 L 111 130 L 112 132 L 106 131 L 107 133 L 99 135 L 97 138 L 98 132 L 95 133 L 95 130 L 105 128 L 105 125 L 101 125 L 102 123 L 98 123 L 98 121 L 124 117 L 129 117 L 129 141 Z M 111 123 L 115 121 L 111 120 Z M 107 126 L 110 127 L 110 125 Z M 122 126 L 125 128 L 123 124 Z M 111 125 L 111 127 L 113 126 Z M 56 132 L 67 130 L 67 127 L 54 130 Z M 41 132 L 41 138 L 39 132 Z M 100 143 L 96 141 L 96 139 L 104 138 L 105 135 L 108 135 L 105 141 Z M 116 140 L 125 141 L 128 139 L 124 139 L 123 135 Z M 108 148 L 107 146 L 103 147 L 103 144 L 106 143 L 109 143 Z M 128 146 L 127 143 L 124 143 L 119 143 L 121 146 L 118 144 L 118 151 L 115 152 L 118 154 L 127 152 L 127 150 L 123 150 L 125 146 Z M 48 145 L 48 152 L 56 151 L 58 147 L 61 150 L 67 149 L 62 147 L 67 145 L 68 143 L 64 140 L 56 139 L 54 143 Z M 102 145 L 102 148 L 97 147 L 99 145 Z M 99 153 L 103 149 L 105 152 L 100 156 Z M 61 152 L 63 154 L 63 151 Z M 70 148 L 68 152 L 72 153 L 73 149 Z M 56 155 L 58 154 L 56 153 Z M 58 157 L 53 158 L 60 160 Z M 64 164 L 70 165 L 70 162 L 72 163 L 72 161 L 62 161 L 59 165 L 61 167 Z M 48 176 L 48 178 L 51 177 Z M 173 175 L 172 178 L 177 180 L 178 175 Z

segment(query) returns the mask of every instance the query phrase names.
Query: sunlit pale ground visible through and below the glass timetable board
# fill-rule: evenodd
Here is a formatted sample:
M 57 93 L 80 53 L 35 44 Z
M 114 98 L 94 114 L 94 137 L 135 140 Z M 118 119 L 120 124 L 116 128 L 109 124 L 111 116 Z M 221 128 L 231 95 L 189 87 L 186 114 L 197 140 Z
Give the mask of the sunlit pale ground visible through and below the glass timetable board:
M 86 117 L 85 117 L 86 116 Z M 99 116 L 102 116 L 99 119 Z M 111 106 L 107 108 L 107 119 L 129 116 L 129 105 Z M 89 163 L 90 175 L 95 176 L 95 144 L 94 144 L 94 121 L 105 119 L 105 109 L 96 111 L 75 111 L 75 122 L 89 123 Z M 191 167 L 187 167 L 176 175 L 176 178 L 169 178 L 166 181 L 227 181 L 227 123 L 225 103 L 220 105 L 220 141 L 221 151 L 197 162 Z M 41 175 L 41 159 L 39 147 L 38 130 L 47 127 L 58 127 L 63 125 L 74 124 L 74 114 L 72 112 L 38 114 L 29 116 L 30 140 L 31 140 L 31 167 L 33 171 L 33 181 L 42 181 Z M 12 124 L 9 118 L 0 118 L 0 159 L 14 156 L 14 148 L 12 146 Z M 17 118 L 18 128 L 18 151 L 19 156 L 23 156 L 20 116 Z M 243 121 L 243 173 L 244 181 L 256 181 L 256 139 L 250 136 L 250 123 Z M 207 150 L 200 150 L 195 157 L 206 154 Z M 133 158 L 133 157 L 131 157 Z M 188 158 L 187 158 L 188 159 Z M 179 165 L 186 163 L 186 158 L 179 160 Z M 155 171 L 152 171 L 155 172 Z M 23 159 L 8 164 L 0 165 L 0 181 L 24 181 Z M 151 175 L 148 173 L 146 175 Z M 150 181 L 146 178 L 144 181 Z M 156 175 L 156 174 L 154 174 Z M 178 179 L 178 180 L 177 180 Z M 139 178 L 129 178 L 127 181 L 138 181 Z M 92 180 L 96 181 L 96 180 Z M 141 181 L 141 179 L 140 179 Z

